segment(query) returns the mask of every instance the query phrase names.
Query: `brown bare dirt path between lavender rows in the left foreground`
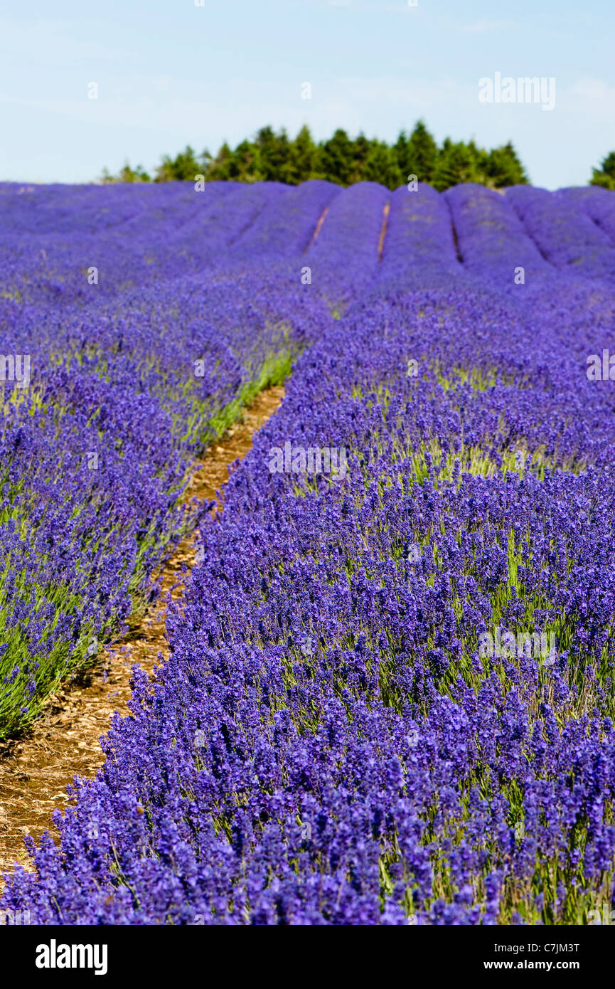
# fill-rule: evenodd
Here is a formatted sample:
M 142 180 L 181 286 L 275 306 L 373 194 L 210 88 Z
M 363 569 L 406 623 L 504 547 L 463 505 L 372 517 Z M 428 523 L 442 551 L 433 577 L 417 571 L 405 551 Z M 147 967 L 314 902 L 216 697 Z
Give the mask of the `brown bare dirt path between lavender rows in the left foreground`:
M 228 480 L 228 465 L 245 456 L 252 435 L 278 408 L 282 386 L 262 392 L 243 410 L 241 419 L 207 452 L 191 479 L 188 497 L 216 500 Z M 153 674 L 158 653 L 168 656 L 164 637 L 165 598 L 183 596 L 182 565 L 190 570 L 195 561 L 194 536 L 181 543 L 162 570 L 161 596 L 144 616 L 129 621 L 130 632 L 120 643 L 107 647 L 100 667 L 83 682 L 67 684 L 49 697 L 43 717 L 22 739 L 0 747 L 0 889 L 2 873 L 14 862 L 29 865 L 24 837 L 39 840 L 45 828 L 55 837 L 53 810 L 67 805 L 65 788 L 73 776 L 93 776 L 103 764 L 100 737 L 110 727 L 114 711 L 128 714 L 131 667 L 138 664 Z

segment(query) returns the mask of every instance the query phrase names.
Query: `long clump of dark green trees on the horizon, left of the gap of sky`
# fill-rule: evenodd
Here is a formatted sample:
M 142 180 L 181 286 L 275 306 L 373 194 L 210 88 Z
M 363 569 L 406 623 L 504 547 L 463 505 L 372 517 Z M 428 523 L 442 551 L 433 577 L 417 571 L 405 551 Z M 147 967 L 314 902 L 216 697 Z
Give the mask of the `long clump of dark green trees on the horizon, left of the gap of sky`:
M 415 175 L 440 192 L 461 182 L 499 189 L 529 181 L 511 141 L 490 150 L 474 140 L 450 137 L 438 145 L 423 121 L 409 135 L 401 131 L 395 144 L 363 134 L 353 138 L 342 129 L 316 142 L 306 126 L 292 139 L 284 129 L 276 133 L 264 127 L 252 140 L 242 140 L 234 148 L 224 142 L 215 156 L 207 150 L 198 155 L 188 145 L 175 158 L 165 155 L 152 175 L 140 165 L 132 168 L 127 161 L 118 175 L 105 169 L 101 181 L 194 182 L 197 175 L 206 181 L 288 185 L 308 179 L 326 179 L 341 186 L 370 181 L 389 189 L 406 184 Z

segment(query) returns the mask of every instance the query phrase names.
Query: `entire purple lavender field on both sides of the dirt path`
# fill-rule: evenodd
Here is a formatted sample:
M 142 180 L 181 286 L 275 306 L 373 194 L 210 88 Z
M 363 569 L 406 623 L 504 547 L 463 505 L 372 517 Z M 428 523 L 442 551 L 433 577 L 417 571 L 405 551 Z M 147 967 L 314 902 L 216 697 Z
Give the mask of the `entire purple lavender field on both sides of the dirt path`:
M 0 742 L 201 547 L 0 910 L 615 907 L 614 317 L 598 187 L 0 185 Z M 187 502 L 281 383 L 220 514 Z

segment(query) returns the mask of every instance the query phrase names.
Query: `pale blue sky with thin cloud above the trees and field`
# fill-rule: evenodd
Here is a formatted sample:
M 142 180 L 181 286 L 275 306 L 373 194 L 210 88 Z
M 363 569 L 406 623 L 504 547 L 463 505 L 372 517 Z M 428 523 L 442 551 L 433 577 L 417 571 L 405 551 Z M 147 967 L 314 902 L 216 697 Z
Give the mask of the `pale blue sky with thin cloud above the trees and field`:
M 615 150 L 614 53 L 613 0 L 2 0 L 0 181 L 149 170 L 267 124 L 391 142 L 422 118 L 439 142 L 512 139 L 534 185 L 584 185 Z M 496 73 L 555 80 L 553 109 L 482 102 Z

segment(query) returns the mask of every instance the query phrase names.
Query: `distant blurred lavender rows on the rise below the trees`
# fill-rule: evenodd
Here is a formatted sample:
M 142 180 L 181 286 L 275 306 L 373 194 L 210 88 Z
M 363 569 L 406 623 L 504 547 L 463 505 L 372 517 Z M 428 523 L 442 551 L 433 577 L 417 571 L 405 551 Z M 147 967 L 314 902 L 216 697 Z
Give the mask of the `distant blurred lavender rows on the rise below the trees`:
M 297 282 L 308 266 L 314 291 L 342 303 L 368 289 L 387 294 L 469 278 L 507 290 L 519 266 L 530 287 L 563 276 L 615 281 L 615 205 L 598 188 L 518 186 L 502 195 L 478 185 L 392 194 L 374 183 L 340 189 L 321 181 L 215 182 L 203 192 L 191 183 L 4 185 L 0 211 L 0 285 L 55 303 L 92 301 L 90 265 L 100 272 L 99 296 L 146 289 L 154 272 L 168 280 L 263 264 Z

